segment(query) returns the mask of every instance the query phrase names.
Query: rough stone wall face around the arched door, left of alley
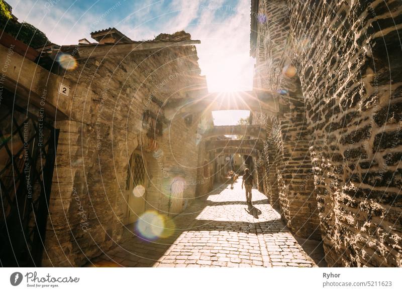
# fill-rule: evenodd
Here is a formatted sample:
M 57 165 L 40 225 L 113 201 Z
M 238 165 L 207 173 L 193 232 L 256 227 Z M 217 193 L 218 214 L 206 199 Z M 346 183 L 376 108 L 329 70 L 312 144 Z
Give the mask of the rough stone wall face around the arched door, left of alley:
M 136 149 L 148 164 L 146 209 L 173 216 L 195 194 L 195 185 L 187 182 L 196 180 L 197 124 L 179 115 L 164 118 L 160 108 L 199 92 L 194 90 L 200 85 L 193 48 L 79 60 L 64 78 L 77 86 L 71 120 L 56 122 L 60 138 L 45 266 L 82 265 L 119 241 L 128 162 Z

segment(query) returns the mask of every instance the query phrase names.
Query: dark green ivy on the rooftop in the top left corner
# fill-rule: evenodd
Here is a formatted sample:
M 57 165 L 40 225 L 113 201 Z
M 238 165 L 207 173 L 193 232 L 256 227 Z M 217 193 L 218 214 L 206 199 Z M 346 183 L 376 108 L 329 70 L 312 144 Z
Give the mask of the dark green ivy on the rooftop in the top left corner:
M 33 25 L 14 21 L 9 7 L 3 0 L 0 0 L 0 29 L 32 48 L 43 47 L 49 41 L 46 35 Z

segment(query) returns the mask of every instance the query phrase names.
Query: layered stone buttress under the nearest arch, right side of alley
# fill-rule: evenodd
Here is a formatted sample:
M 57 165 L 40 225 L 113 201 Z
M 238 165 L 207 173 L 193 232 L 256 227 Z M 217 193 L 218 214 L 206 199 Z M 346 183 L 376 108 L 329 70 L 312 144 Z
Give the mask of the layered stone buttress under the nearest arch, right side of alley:
M 278 119 L 282 139 L 283 158 L 281 178 L 283 189 L 282 209 L 288 226 L 299 236 L 320 238 L 317 199 L 314 190 L 309 146 L 311 133 L 307 129 L 304 103 L 295 96 L 288 96 L 289 106 Z

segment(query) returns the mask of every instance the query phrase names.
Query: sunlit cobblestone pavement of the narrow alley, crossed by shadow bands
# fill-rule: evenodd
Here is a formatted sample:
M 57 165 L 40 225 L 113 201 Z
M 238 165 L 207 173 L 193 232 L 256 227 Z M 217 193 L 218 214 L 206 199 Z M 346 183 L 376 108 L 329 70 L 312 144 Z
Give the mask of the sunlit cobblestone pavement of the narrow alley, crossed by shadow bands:
M 225 186 L 173 218 L 171 237 L 146 241 L 128 229 L 119 245 L 88 266 L 317 266 L 263 194 L 252 190 L 251 208 L 240 182 L 233 190 Z

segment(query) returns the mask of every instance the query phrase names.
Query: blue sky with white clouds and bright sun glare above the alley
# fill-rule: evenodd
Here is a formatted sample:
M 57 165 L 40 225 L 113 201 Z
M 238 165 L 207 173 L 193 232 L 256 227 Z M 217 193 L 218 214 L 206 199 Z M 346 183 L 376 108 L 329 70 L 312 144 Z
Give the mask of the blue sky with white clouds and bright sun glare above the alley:
M 252 89 L 248 0 L 8 0 L 19 21 L 29 22 L 59 45 L 90 41 L 90 32 L 116 27 L 132 40 L 185 30 L 197 45 L 208 89 Z M 224 113 L 222 113 L 224 114 Z M 229 112 L 230 119 L 248 116 Z M 222 116 L 220 117 L 220 120 Z

